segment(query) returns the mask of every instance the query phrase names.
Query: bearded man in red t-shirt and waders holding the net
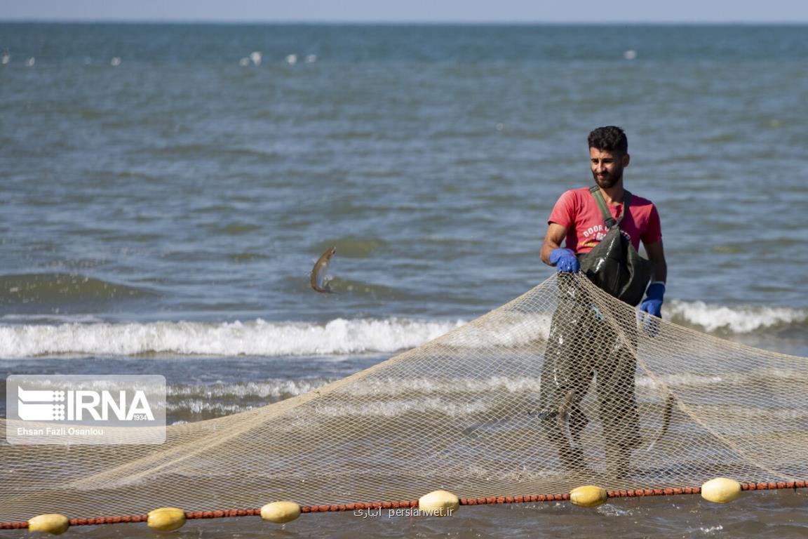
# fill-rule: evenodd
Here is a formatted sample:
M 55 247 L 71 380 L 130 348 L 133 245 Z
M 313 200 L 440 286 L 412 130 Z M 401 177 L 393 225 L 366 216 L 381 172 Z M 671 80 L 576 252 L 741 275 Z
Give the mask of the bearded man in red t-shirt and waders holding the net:
M 595 377 L 607 473 L 621 478 L 641 441 L 634 394 L 637 325 L 625 317 L 618 318 L 619 330 L 614 322 L 610 325 L 576 284 L 581 277 L 573 274 L 582 272 L 612 296 L 639 303 L 652 324 L 644 327 L 654 335 L 650 315 L 662 316 L 667 263 L 657 209 L 623 187 L 623 169 L 630 160 L 625 133 L 615 126 L 596 128 L 588 141 L 595 186 L 562 194 L 541 246 L 542 261 L 558 267 L 560 275 L 558 309 L 541 371 L 540 417 L 562 465 L 586 470 L 579 436 L 587 417 L 579 403 Z M 637 253 L 641 241 L 648 260 Z

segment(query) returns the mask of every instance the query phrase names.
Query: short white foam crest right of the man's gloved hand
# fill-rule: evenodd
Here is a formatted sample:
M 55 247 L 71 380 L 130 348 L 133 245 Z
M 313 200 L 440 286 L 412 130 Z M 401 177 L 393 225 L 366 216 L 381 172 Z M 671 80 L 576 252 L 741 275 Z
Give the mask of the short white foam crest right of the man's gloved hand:
M 680 318 L 705 331 L 729 330 L 732 333 L 751 333 L 781 324 L 808 321 L 808 311 L 788 307 L 727 307 L 704 301 L 671 301 L 664 308 L 666 317 Z M 676 322 L 676 320 L 674 320 Z

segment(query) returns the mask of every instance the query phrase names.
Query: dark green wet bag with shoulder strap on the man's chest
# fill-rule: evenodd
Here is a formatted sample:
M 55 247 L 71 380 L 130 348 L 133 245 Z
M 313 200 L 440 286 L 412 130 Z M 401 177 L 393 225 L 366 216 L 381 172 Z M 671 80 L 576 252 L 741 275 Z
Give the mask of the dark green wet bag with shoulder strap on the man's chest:
M 638 305 L 654 272 L 654 264 L 642 258 L 629 239 L 620 232 L 620 223 L 629 212 L 631 193 L 623 196 L 623 213 L 615 220 L 597 186 L 589 192 L 595 197 L 608 232 L 594 249 L 579 255 L 581 272 L 596 286 L 629 305 Z

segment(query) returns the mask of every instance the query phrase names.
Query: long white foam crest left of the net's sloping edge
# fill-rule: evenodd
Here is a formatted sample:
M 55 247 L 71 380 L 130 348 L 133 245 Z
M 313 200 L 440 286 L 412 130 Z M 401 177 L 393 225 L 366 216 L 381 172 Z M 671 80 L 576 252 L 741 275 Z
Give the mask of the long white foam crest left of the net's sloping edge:
M 398 352 L 464 322 L 337 318 L 305 322 L 150 322 L 0 326 L 0 357 L 48 354 L 133 356 L 332 356 Z

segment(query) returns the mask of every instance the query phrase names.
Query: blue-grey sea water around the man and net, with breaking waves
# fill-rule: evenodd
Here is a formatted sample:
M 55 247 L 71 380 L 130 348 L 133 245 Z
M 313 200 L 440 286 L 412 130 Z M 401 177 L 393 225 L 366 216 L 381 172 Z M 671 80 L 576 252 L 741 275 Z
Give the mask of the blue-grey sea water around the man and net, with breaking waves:
M 605 124 L 628 134 L 626 187 L 659 207 L 664 316 L 808 356 L 805 35 L 2 23 L 0 372 L 162 374 L 174 423 L 316 389 L 550 276 L 546 219 L 592 183 Z M 335 294 L 318 294 L 330 246 Z M 805 503 L 313 515 L 283 533 L 798 537 Z M 138 533 L 113 528 L 82 533 Z

